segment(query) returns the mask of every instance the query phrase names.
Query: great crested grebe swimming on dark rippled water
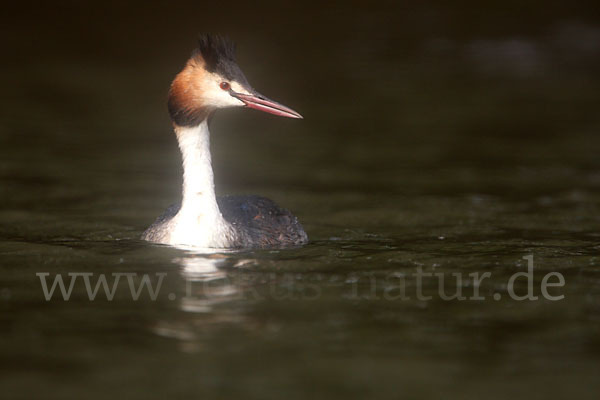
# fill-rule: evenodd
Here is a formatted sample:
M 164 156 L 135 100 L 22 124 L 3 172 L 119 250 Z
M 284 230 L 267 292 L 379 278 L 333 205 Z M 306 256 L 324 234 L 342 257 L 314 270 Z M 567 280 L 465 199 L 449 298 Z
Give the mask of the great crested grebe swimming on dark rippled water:
M 215 195 L 208 120 L 219 108 L 242 106 L 302 118 L 248 84 L 235 61 L 232 42 L 201 35 L 198 48 L 169 90 L 169 114 L 183 156 L 182 201 L 167 208 L 142 239 L 209 248 L 269 248 L 308 242 L 298 219 L 272 200 Z

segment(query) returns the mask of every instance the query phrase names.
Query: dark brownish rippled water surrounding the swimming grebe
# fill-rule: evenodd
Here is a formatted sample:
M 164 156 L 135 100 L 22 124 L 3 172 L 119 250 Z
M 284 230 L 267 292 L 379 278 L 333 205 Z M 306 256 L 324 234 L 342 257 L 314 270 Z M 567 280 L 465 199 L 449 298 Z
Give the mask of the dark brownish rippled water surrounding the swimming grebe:
M 1 397 L 597 398 L 597 8 L 10 10 Z M 179 196 L 165 92 L 207 30 L 230 34 L 250 82 L 305 116 L 218 115 L 217 190 L 293 210 L 308 246 L 195 254 L 137 239 Z M 518 301 L 508 282 L 530 255 L 538 299 Z M 419 271 L 444 292 L 424 278 L 419 299 Z M 126 275 L 112 301 L 90 301 L 81 276 L 69 301 L 46 301 L 44 272 L 163 278 L 155 301 L 132 300 Z M 485 272 L 483 300 L 444 300 L 473 296 L 469 274 Z M 562 300 L 540 291 L 551 272 Z

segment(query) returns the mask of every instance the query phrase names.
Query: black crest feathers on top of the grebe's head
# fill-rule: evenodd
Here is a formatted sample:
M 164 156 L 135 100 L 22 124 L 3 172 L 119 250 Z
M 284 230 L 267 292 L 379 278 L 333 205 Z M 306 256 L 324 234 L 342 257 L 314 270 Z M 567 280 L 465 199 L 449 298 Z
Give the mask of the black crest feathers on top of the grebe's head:
M 235 60 L 235 43 L 220 35 L 203 34 L 198 37 L 196 49 L 209 72 L 215 72 L 226 79 L 248 84 L 244 73 Z

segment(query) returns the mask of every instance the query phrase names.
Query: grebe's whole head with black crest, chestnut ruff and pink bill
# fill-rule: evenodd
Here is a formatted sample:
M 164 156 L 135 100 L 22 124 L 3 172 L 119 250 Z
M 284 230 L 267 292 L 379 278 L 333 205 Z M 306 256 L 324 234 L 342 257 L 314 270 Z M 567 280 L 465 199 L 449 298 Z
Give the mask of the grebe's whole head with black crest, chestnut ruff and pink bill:
M 169 90 L 168 107 L 173 123 L 197 126 L 216 109 L 242 106 L 302 118 L 250 86 L 237 64 L 232 41 L 219 35 L 201 35 L 198 47 Z

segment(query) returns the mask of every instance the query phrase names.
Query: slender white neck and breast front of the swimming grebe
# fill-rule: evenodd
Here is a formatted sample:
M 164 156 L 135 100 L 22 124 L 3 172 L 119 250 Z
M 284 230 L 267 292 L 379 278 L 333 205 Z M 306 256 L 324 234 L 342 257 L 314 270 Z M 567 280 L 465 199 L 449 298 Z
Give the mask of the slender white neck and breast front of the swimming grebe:
M 183 156 L 183 198 L 170 242 L 228 247 L 232 230 L 217 205 L 208 123 L 204 120 L 195 127 L 176 127 L 175 132 Z

